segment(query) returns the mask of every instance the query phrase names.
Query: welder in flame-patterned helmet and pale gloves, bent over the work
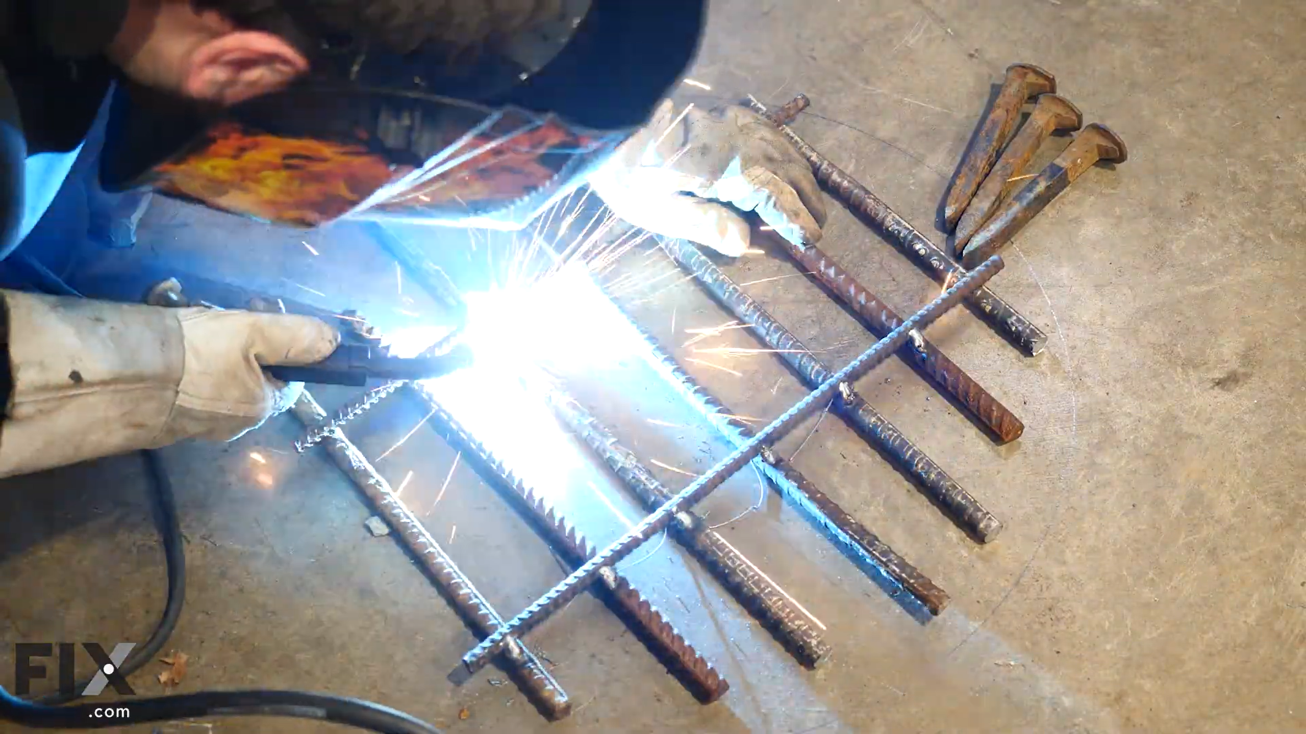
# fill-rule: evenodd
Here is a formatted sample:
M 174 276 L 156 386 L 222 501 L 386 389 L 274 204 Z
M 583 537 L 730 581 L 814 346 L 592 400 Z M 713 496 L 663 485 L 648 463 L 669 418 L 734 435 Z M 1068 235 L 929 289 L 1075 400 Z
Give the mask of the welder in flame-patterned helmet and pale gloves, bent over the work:
M 751 212 L 820 236 L 807 165 L 738 106 L 663 101 L 705 0 L 5 0 L 0 247 L 48 206 L 112 90 L 99 176 L 269 222 L 521 227 L 589 183 L 633 225 L 726 255 Z M 0 475 L 187 438 L 295 397 L 304 316 L 0 291 Z

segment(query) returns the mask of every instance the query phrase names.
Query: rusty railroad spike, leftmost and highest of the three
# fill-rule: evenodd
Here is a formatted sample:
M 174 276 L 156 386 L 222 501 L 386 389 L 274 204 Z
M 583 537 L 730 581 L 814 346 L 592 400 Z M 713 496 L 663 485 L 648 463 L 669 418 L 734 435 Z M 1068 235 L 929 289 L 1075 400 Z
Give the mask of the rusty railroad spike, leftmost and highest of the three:
M 1051 94 L 1057 91 L 1057 77 L 1040 69 L 1033 64 L 1012 64 L 1007 67 L 1007 78 L 994 99 L 989 115 L 980 125 L 980 133 L 961 159 L 957 168 L 957 178 L 952 180 L 948 197 L 943 205 L 943 218 L 948 225 L 948 231 L 957 226 L 966 204 L 980 188 L 989 170 L 993 168 L 998 152 L 1007 142 L 1011 131 L 1020 121 L 1020 108 L 1030 97 Z

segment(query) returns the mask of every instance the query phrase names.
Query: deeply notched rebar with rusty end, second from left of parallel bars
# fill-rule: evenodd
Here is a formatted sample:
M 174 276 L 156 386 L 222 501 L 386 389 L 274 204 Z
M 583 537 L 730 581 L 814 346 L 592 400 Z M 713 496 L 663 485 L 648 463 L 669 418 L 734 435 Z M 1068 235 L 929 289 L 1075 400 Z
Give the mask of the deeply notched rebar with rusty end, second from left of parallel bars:
M 571 566 L 580 566 L 594 558 L 596 549 L 585 539 L 575 525 L 545 502 L 545 495 L 526 483 L 508 468 L 488 447 L 477 440 L 458 421 L 440 405 L 430 388 L 421 383 L 413 384 L 413 392 L 431 411 L 430 423 L 451 444 L 470 456 L 482 469 L 496 479 L 494 485 L 511 492 L 539 528 L 549 545 L 559 551 Z M 657 657 L 669 663 L 686 688 L 703 703 L 720 699 L 730 683 L 697 650 L 693 649 L 671 626 L 662 613 L 649 603 L 644 596 L 613 568 L 605 568 L 599 575 L 601 588 L 607 593 L 605 601 L 629 623 L 637 636 L 645 640 Z

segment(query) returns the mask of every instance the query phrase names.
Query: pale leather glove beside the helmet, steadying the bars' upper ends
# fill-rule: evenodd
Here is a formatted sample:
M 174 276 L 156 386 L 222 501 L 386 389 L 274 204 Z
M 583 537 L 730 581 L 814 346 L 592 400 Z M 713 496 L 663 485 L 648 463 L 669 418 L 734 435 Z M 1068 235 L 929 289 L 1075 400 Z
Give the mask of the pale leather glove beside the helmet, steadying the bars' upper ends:
M 774 125 L 739 106 L 682 116 L 663 101 L 589 183 L 622 219 L 729 256 L 748 248 L 742 212 L 795 244 L 816 243 L 825 223 L 811 167 Z

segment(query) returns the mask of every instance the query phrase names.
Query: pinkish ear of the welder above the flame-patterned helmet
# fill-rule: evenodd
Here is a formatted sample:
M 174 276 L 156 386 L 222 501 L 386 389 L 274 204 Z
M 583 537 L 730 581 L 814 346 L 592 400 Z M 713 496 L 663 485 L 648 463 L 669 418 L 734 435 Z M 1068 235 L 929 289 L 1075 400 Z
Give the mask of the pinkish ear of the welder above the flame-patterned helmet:
M 308 60 L 281 37 L 238 30 L 196 48 L 183 91 L 205 102 L 236 104 L 277 91 L 307 71 Z

